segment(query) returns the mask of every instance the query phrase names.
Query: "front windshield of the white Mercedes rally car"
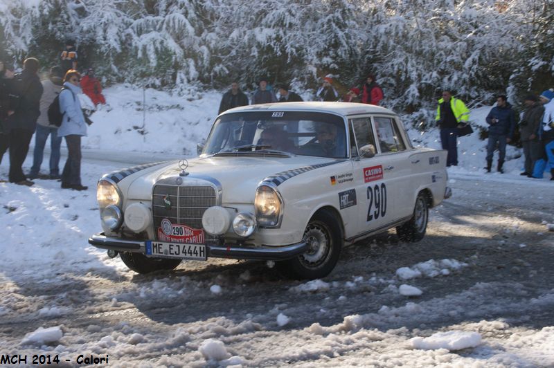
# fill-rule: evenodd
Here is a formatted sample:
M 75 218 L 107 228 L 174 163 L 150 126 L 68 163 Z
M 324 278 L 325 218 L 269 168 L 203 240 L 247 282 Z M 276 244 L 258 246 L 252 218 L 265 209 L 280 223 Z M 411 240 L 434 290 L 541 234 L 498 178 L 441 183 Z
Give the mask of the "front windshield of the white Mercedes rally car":
M 305 111 L 243 111 L 215 122 L 202 154 L 285 152 L 346 158 L 343 118 Z

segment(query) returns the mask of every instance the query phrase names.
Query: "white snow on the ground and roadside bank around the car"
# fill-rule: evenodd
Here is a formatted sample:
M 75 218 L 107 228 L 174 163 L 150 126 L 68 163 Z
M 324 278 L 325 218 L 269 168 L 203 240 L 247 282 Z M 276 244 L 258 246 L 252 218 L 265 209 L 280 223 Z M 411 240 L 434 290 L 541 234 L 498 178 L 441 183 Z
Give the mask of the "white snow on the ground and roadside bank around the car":
M 202 96 L 185 97 L 152 89 L 147 89 L 144 93 L 147 106 L 145 111 L 141 89 L 123 85 L 106 89 L 109 106 L 102 107 L 92 116 L 94 124 L 89 128 L 89 137 L 83 140 L 83 146 L 93 151 L 193 156 L 196 143 L 206 137 L 216 116 L 220 93 L 208 92 Z M 489 109 L 490 107 L 483 107 L 472 111 L 472 120 L 482 124 Z M 418 144 L 440 148 L 436 129 L 425 134 L 411 129 L 410 135 Z M 482 169 L 485 162 L 485 142 L 479 140 L 476 133 L 460 138 L 459 141 L 460 165 L 449 168 L 449 174 L 454 176 L 452 180 L 456 176 L 479 176 L 480 180 L 494 178 L 499 183 L 514 181 L 522 185 L 530 180 L 519 176 L 522 159 L 517 158 L 521 154 L 518 149 L 511 146 L 508 148 L 506 174 L 485 175 Z M 43 163 L 43 172 L 46 161 Z M 30 165 L 31 160 L 28 158 L 24 163 L 25 169 L 28 170 Z M 197 321 L 188 329 L 174 327 L 160 328 L 159 331 L 139 331 L 130 328 L 126 322 L 121 322 L 107 334 L 103 334 L 100 327 L 91 324 L 87 331 L 76 336 L 75 332 L 67 331 L 64 326 L 48 326 L 48 318 L 59 318 L 72 312 L 71 291 L 67 291 L 67 295 L 60 295 L 58 302 L 48 302 L 42 297 L 19 293 L 21 282 L 63 283 L 76 276 L 82 279 L 97 277 L 96 275 L 117 278 L 131 274 L 118 259 L 109 259 L 104 251 L 87 244 L 87 237 L 100 230 L 94 184 L 103 173 L 117 168 L 113 163 L 84 163 L 83 183 L 89 185 L 89 190 L 84 192 L 62 190 L 57 181 L 37 180 L 33 187 L 0 183 L 0 223 L 4 230 L 0 257 L 0 317 L 34 315 L 35 318 L 45 318 L 44 329 L 28 331 L 21 344 L 10 346 L 10 351 L 20 351 L 22 347 L 31 344 L 40 347 L 41 351 L 58 353 L 80 351 L 100 354 L 110 351 L 114 358 L 142 356 L 145 361 L 156 366 L 179 366 L 184 362 L 196 366 L 223 367 L 271 365 L 271 360 L 257 360 L 255 354 L 250 354 L 250 358 L 242 355 L 244 351 L 251 349 L 253 340 L 258 341 L 261 346 L 265 344 L 271 347 L 275 340 L 285 339 L 286 343 L 280 342 L 279 349 L 274 351 L 276 362 L 294 362 L 298 358 L 312 360 L 314 365 L 322 367 L 393 367 L 401 364 L 413 367 L 554 365 L 554 327 L 541 330 L 514 329 L 504 322 L 486 320 L 488 313 L 500 308 L 532 314 L 533 306 L 554 303 L 554 289 L 531 303 L 503 298 L 506 288 L 510 288 L 512 292 L 512 289 L 521 288 L 518 284 L 476 284 L 443 300 L 431 298 L 418 302 L 417 298 L 406 298 L 406 304 L 402 306 L 381 306 L 378 311 L 364 315 L 345 315 L 343 322 L 339 324 L 322 326 L 315 322 L 305 329 L 289 327 L 294 315 L 285 315 L 279 309 L 273 309 L 270 313 L 274 313 L 274 326 L 289 329 L 285 337 L 278 335 L 277 331 L 270 331 L 269 326 L 256 322 L 256 315 L 245 315 L 242 321 L 220 317 Z M 6 178 L 7 173 L 8 163 L 5 159 L 0 166 L 0 176 Z M 548 175 L 543 179 L 546 180 Z M 548 229 L 545 227 L 546 230 Z M 368 279 L 353 276 L 346 282 L 305 282 L 289 288 L 289 292 L 301 297 L 305 293 L 325 295 L 332 290 L 375 289 L 380 293 L 419 295 L 419 288 L 402 282 L 417 277 L 463 277 L 465 266 L 467 264 L 456 259 L 429 259 L 413 266 L 398 268 L 395 273 L 375 275 Z M 244 272 L 236 282 L 246 282 L 250 277 L 249 273 Z M 227 291 L 211 281 L 191 284 L 190 278 L 186 276 L 163 279 L 162 282 L 158 279 L 146 280 L 133 287 L 123 286 L 116 291 L 106 289 L 89 293 L 88 296 L 80 297 L 89 297 L 91 302 L 98 297 L 111 301 L 109 303 L 114 307 L 141 298 L 155 300 L 177 297 L 182 293 L 208 293 L 222 300 L 233 299 L 232 289 Z M 341 295 L 337 303 L 345 301 L 345 295 Z M 494 304 L 483 304 L 483 300 L 491 298 L 494 299 Z M 483 316 L 483 321 L 479 323 L 444 326 L 444 331 L 431 336 L 414 336 L 417 331 L 410 333 L 401 327 L 413 320 L 430 323 L 441 318 L 447 319 L 448 316 L 465 313 L 460 309 L 461 306 L 473 304 L 475 316 Z M 109 311 L 109 306 L 105 308 Z M 391 325 L 399 328 L 388 331 L 379 329 Z M 506 338 L 497 338 L 494 333 L 499 331 Z M 60 340 L 62 344 L 57 345 Z M 226 347 L 227 344 L 233 344 L 233 349 Z M 6 346 L 2 341 L 0 345 Z M 181 346 L 186 346 L 182 355 L 160 356 L 157 353 Z M 464 353 L 458 355 L 450 351 L 458 349 L 464 349 Z M 370 351 L 382 353 L 377 359 Z M 370 355 L 373 358 L 368 358 Z M 156 356 L 156 360 L 152 360 L 152 356 Z M 134 362 L 139 365 L 141 360 Z

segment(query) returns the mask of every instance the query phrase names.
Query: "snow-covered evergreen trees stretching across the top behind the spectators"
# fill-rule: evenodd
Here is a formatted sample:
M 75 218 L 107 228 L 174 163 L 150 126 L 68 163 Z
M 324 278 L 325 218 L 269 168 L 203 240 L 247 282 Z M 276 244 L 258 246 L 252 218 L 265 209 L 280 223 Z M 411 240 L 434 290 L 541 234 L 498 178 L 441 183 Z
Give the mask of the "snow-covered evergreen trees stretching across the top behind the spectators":
M 0 0 L 0 41 L 51 66 L 71 37 L 80 68 L 150 86 L 373 73 L 386 106 L 422 116 L 441 89 L 476 106 L 552 86 L 553 18 L 554 0 Z

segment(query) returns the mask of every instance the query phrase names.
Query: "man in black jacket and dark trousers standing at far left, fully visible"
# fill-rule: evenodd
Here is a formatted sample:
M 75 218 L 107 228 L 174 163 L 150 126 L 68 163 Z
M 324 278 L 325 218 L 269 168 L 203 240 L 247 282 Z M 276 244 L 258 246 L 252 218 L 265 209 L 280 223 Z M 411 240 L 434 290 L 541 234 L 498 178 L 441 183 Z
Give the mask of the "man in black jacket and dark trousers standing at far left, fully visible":
M 42 84 L 38 76 L 39 61 L 29 57 L 23 62 L 23 71 L 14 77 L 14 89 L 19 95 L 14 113 L 9 118 L 10 129 L 10 183 L 31 186 L 22 165 L 29 151 L 30 139 L 35 133 L 40 115 Z

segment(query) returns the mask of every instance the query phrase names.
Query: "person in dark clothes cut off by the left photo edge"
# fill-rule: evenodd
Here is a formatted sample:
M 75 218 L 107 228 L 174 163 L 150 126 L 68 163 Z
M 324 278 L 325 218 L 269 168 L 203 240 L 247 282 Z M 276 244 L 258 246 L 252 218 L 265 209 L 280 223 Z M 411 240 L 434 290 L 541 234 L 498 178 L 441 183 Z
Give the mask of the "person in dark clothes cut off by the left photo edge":
M 2 157 L 10 148 L 10 127 L 8 118 L 13 114 L 12 100 L 14 67 L 12 64 L 0 62 L 0 163 Z

